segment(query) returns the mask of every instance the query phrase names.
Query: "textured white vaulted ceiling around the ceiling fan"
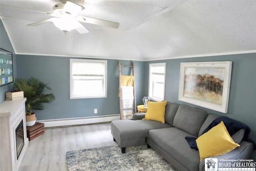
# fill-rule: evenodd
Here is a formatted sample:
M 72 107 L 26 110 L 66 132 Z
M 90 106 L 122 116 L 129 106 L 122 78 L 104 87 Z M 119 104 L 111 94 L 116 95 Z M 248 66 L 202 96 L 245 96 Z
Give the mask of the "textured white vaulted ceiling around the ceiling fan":
M 72 0 L 85 7 L 80 15 L 119 22 L 120 27 L 82 23 L 90 33 L 65 34 L 51 23 L 26 26 L 51 18 L 45 12 L 60 2 L 66 1 L 0 0 L 0 15 L 17 54 L 155 60 L 256 51 L 254 0 Z

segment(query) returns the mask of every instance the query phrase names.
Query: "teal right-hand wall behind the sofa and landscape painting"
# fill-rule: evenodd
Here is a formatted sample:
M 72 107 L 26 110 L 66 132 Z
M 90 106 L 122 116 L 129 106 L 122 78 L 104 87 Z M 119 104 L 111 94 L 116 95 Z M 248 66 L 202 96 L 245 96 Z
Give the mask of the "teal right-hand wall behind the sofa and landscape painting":
M 232 61 L 232 77 L 228 113 L 223 114 L 178 100 L 180 63 L 206 61 Z M 166 63 L 166 91 L 165 99 L 177 104 L 188 104 L 201 108 L 208 113 L 228 116 L 250 126 L 251 138 L 256 142 L 256 53 L 239 55 L 222 55 L 212 57 L 196 57 L 183 59 L 169 59 L 161 61 L 147 61 L 145 64 L 145 91 L 148 94 L 148 67 L 150 63 Z

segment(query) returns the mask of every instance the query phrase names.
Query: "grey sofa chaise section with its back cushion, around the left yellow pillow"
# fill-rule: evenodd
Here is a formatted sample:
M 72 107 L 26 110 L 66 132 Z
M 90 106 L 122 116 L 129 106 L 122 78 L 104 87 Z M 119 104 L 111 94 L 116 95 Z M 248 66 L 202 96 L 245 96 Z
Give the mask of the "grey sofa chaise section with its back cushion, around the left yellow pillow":
M 172 127 L 178 106 L 178 104 L 167 102 L 164 116 L 166 123 L 164 124 L 152 120 L 142 120 L 145 114 L 134 114 L 134 120 L 112 121 L 111 134 L 114 141 L 121 147 L 122 153 L 125 152 L 125 147 L 146 144 L 149 130 Z

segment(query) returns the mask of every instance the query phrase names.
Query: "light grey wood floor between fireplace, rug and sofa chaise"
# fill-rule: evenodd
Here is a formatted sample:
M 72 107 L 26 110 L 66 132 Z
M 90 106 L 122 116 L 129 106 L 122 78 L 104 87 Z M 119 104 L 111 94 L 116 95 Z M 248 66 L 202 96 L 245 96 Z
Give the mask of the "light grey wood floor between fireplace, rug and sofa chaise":
M 46 128 L 28 144 L 19 171 L 66 171 L 66 152 L 116 145 L 110 123 Z

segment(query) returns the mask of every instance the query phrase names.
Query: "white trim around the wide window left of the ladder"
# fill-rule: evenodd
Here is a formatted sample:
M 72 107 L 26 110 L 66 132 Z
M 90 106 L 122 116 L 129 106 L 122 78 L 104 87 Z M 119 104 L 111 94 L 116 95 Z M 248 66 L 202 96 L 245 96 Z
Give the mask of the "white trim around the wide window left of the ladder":
M 73 96 L 73 80 L 72 80 L 72 63 L 73 62 L 88 62 L 88 63 L 104 63 L 105 64 L 105 79 L 104 79 L 104 87 L 105 87 L 105 94 L 103 96 Z M 69 78 L 70 78 L 70 99 L 79 99 L 79 98 L 106 98 L 107 97 L 107 71 L 108 71 L 108 61 L 107 60 L 93 60 L 93 59 L 70 59 L 69 62 Z

